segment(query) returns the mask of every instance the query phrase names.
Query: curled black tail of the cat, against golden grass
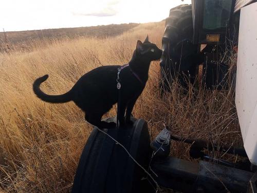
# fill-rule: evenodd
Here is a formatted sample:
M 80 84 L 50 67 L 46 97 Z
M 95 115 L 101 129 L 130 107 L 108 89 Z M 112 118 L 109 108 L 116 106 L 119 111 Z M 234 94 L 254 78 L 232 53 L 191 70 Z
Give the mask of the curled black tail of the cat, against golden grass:
M 48 94 L 45 94 L 43 91 L 41 91 L 40 84 L 46 81 L 47 78 L 48 78 L 48 75 L 44 75 L 40 78 L 37 78 L 34 81 L 33 91 L 37 97 L 39 97 L 40 99 L 46 102 L 51 102 L 51 103 L 63 103 L 63 102 L 68 102 L 72 100 L 71 90 L 62 95 L 48 95 Z

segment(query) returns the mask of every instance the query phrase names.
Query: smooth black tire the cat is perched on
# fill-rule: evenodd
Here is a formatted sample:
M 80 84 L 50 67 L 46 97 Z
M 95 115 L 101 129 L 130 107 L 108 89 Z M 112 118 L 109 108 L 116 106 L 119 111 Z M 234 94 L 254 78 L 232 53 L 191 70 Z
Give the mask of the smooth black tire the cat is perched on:
M 131 128 L 104 131 L 121 143 L 141 166 L 148 168 L 150 135 L 143 119 L 135 120 Z M 72 193 L 153 192 L 143 177 L 146 177 L 144 171 L 124 149 L 95 128 L 81 154 Z

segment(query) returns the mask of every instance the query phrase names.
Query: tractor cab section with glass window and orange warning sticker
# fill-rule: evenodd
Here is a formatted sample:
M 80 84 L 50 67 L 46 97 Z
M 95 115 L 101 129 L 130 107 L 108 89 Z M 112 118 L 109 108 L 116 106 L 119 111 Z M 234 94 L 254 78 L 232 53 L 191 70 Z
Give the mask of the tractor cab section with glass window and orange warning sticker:
M 192 0 L 193 44 L 223 44 L 235 1 Z

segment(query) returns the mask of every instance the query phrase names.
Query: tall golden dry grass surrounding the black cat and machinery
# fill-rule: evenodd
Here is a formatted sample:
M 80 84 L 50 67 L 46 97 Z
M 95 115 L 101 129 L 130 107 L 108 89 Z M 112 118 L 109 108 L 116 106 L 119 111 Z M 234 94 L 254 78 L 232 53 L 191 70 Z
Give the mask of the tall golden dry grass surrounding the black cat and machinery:
M 100 65 L 125 64 L 137 40 L 149 34 L 161 47 L 164 22 L 140 24 L 115 37 L 36 42 L 30 50 L 0 53 L 0 192 L 68 192 L 81 151 L 92 127 L 74 103 L 50 104 L 36 98 L 35 78 L 49 74 L 42 89 L 67 92 L 86 72 Z M 231 60 L 231 65 L 234 64 Z M 162 98 L 159 63 L 152 62 L 149 81 L 134 107 L 137 118 L 148 121 L 151 137 L 165 122 L 173 134 L 201 138 L 215 144 L 242 147 L 234 104 L 234 90 L 182 94 L 179 85 Z M 115 115 L 115 109 L 106 117 Z M 171 155 L 191 160 L 189 145 L 173 142 Z M 236 156 L 212 156 L 232 162 Z M 197 162 L 197 160 L 192 160 Z

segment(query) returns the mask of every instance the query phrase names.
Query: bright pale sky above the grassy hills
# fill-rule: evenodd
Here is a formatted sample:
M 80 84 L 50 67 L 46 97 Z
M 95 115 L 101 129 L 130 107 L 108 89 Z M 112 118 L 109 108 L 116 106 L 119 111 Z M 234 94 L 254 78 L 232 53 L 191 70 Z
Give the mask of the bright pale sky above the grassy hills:
M 158 22 L 185 0 L 7 0 L 1 2 L 0 30 L 20 31 L 121 23 Z

